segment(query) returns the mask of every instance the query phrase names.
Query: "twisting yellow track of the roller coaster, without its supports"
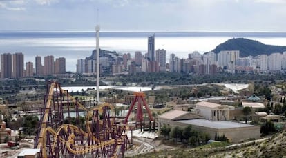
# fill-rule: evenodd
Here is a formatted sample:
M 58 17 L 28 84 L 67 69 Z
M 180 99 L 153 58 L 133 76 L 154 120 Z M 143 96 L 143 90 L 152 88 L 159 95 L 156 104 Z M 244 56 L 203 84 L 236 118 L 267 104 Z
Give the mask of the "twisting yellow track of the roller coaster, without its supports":
M 98 150 L 100 148 L 104 148 L 106 146 L 111 146 L 111 145 L 116 144 L 116 152 L 113 153 L 112 157 L 117 157 L 117 153 L 121 148 L 120 143 L 123 141 L 123 139 L 126 138 L 126 135 L 125 136 L 122 135 L 122 137 L 120 139 L 117 139 L 116 141 L 115 141 L 115 139 L 109 139 L 106 141 L 102 141 L 102 140 L 98 139 L 97 137 L 95 137 L 95 135 L 93 135 L 93 132 L 92 132 L 92 130 L 90 128 L 90 124 L 89 124 L 89 119 L 90 119 L 90 117 L 93 116 L 93 111 L 98 110 L 99 113 L 102 113 L 104 108 L 113 109 L 113 107 L 108 103 L 103 103 L 103 104 L 101 104 L 101 105 L 99 105 L 99 106 L 97 106 L 91 110 L 88 110 L 81 103 L 77 102 L 77 100 L 75 98 L 70 96 L 66 90 L 60 89 L 63 94 L 65 94 L 66 96 L 68 96 L 69 99 L 72 100 L 72 102 L 76 102 L 77 105 L 79 106 L 79 108 L 86 111 L 86 130 L 87 130 L 87 132 L 84 132 L 84 130 L 78 128 L 77 126 L 74 126 L 73 124 L 62 124 L 61 126 L 59 126 L 59 128 L 57 128 L 57 130 L 54 130 L 52 127 L 47 126 L 46 123 L 48 121 L 50 108 L 52 108 L 51 103 L 52 103 L 52 99 L 53 99 L 53 95 L 54 95 L 53 93 L 54 93 L 55 87 L 56 87 L 55 82 L 50 83 L 50 88 L 48 90 L 48 98 L 46 101 L 46 107 L 44 109 L 44 116 L 42 117 L 43 119 L 41 122 L 41 130 L 39 132 L 39 141 L 37 144 L 37 148 L 41 148 L 42 157 L 47 157 L 47 151 L 46 151 L 46 140 L 47 140 L 46 135 L 47 135 L 47 132 L 49 132 L 51 135 L 53 135 L 53 145 L 51 146 L 52 152 L 55 152 L 57 141 L 61 141 L 60 142 L 61 144 L 65 144 L 67 150 L 70 153 L 73 153 L 74 155 L 88 154 L 88 153 L 93 152 L 95 150 Z M 102 121 L 99 121 L 99 124 L 102 125 Z M 114 119 L 111 121 L 111 125 L 112 125 L 111 128 L 116 128 L 115 126 L 113 126 L 114 125 Z M 126 128 L 128 128 L 128 127 L 126 127 Z M 68 132 L 68 129 L 72 129 L 72 130 L 70 130 L 72 132 Z M 66 136 L 68 136 L 68 140 L 59 136 L 59 132 L 62 132 L 62 131 L 64 131 L 66 133 Z M 76 145 L 75 144 L 75 134 L 81 134 L 86 139 L 89 137 L 94 142 L 97 142 L 97 144 L 93 144 L 93 145 L 89 145 L 89 146 Z

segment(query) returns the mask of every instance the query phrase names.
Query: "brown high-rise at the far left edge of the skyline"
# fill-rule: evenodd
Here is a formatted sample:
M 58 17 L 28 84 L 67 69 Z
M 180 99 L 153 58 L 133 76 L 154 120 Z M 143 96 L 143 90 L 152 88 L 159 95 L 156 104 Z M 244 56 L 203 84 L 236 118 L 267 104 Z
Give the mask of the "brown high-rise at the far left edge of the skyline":
M 5 53 L 1 55 L 1 78 L 11 78 L 12 77 L 12 55 L 10 53 Z

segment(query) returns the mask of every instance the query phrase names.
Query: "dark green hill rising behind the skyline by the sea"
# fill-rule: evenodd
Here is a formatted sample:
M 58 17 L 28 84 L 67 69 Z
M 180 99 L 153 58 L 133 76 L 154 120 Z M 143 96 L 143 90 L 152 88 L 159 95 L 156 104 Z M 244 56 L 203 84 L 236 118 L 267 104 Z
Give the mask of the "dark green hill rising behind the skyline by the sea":
M 247 57 L 249 55 L 270 55 L 273 52 L 285 52 L 286 46 L 273 46 L 251 39 L 233 38 L 216 46 L 216 49 L 212 51 L 218 53 L 221 50 L 240 50 L 240 57 Z

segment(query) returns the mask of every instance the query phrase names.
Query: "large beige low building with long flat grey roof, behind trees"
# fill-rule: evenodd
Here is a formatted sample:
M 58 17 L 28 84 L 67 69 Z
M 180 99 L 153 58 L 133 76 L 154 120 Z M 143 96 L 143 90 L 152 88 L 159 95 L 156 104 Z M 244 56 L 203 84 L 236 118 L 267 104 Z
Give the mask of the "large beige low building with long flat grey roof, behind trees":
M 233 121 L 211 121 L 192 112 L 172 110 L 158 117 L 158 131 L 166 125 L 171 128 L 180 126 L 182 128 L 192 126 L 198 132 L 206 132 L 211 139 L 225 135 L 231 142 L 240 142 L 246 139 L 258 139 L 260 137 L 260 126 L 241 124 Z

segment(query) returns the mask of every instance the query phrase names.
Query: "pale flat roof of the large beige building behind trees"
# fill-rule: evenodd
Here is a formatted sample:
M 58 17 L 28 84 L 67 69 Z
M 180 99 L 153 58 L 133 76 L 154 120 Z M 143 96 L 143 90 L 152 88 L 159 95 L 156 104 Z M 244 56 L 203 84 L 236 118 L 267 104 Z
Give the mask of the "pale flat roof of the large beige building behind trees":
M 189 120 L 181 120 L 178 122 L 183 124 L 190 124 L 194 126 L 203 126 L 216 129 L 254 127 L 253 125 L 250 124 L 242 124 L 233 121 L 211 121 L 207 119 L 189 119 Z

